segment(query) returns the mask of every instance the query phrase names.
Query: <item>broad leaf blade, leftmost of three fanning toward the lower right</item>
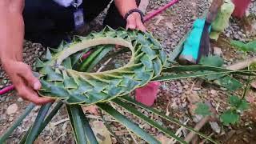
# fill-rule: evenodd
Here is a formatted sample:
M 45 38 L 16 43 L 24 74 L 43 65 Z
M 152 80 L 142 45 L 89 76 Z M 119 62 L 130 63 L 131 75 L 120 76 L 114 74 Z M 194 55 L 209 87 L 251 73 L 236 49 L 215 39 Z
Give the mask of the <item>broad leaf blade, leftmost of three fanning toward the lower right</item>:
M 126 126 L 128 129 L 133 131 L 134 134 L 137 134 L 140 138 L 144 139 L 146 142 L 160 143 L 153 136 L 146 133 L 146 131 L 142 130 L 139 126 L 134 124 L 134 122 L 130 122 L 129 119 L 127 119 L 125 116 L 120 114 L 117 110 L 114 110 L 112 106 L 109 106 L 106 103 L 98 103 L 97 106 L 100 107 L 102 110 L 106 111 L 107 114 L 110 114 L 112 117 L 118 120 L 118 122 L 121 122 L 124 126 Z

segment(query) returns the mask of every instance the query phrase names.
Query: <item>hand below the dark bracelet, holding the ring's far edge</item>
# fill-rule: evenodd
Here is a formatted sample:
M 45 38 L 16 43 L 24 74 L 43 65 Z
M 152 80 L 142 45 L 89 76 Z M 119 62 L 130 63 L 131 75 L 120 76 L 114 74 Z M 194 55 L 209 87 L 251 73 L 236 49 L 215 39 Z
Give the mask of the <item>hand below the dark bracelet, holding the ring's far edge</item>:
M 141 15 L 138 14 L 137 12 L 130 14 L 127 17 L 126 21 L 127 21 L 126 30 L 138 29 L 138 30 L 146 31 L 146 27 L 142 23 Z

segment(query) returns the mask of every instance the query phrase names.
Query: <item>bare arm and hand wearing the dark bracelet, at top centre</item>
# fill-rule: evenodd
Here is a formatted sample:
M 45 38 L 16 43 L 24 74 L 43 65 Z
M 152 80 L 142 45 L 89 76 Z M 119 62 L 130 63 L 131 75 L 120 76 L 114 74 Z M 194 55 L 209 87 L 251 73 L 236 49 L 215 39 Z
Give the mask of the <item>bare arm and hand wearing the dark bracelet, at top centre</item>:
M 138 9 L 135 0 L 114 0 L 114 2 L 122 17 L 124 17 L 129 10 Z M 138 29 L 142 31 L 146 30 L 145 26 L 142 23 L 141 16 L 138 13 L 130 14 L 126 21 L 126 29 Z

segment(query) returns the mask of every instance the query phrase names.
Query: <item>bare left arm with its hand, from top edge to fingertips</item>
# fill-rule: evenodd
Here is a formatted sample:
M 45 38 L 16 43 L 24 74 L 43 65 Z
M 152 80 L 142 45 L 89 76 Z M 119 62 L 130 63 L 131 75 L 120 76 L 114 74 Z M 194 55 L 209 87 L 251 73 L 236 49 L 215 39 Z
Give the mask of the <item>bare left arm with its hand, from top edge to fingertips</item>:
M 50 102 L 50 99 L 38 97 L 35 90 L 40 89 L 41 84 L 32 74 L 30 66 L 22 62 L 23 7 L 24 0 L 0 0 L 0 60 L 18 90 L 18 95 L 36 104 L 42 104 Z

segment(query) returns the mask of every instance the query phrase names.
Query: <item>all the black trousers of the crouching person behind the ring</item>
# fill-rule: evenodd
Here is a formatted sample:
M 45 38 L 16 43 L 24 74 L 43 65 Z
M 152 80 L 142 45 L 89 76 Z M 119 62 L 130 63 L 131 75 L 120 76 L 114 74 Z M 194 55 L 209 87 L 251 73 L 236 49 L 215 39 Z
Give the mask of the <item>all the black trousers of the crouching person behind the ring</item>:
M 79 8 L 83 8 L 85 22 L 96 18 L 109 3 L 110 0 L 83 0 Z M 74 30 L 74 10 L 74 6 L 59 6 L 53 0 L 26 0 L 23 10 L 25 39 L 52 48 L 62 40 L 68 41 L 67 33 Z M 114 2 L 106 14 L 104 25 L 114 29 L 126 26 Z

